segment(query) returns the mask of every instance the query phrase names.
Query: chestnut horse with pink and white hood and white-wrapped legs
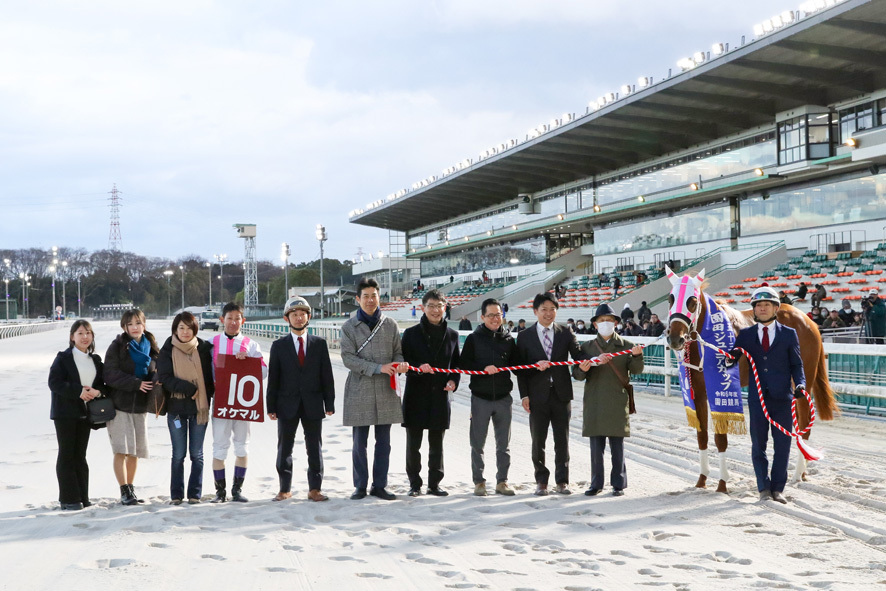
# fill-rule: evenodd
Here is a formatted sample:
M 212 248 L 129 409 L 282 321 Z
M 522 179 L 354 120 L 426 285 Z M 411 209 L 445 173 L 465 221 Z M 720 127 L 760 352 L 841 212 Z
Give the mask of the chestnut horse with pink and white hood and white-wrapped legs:
M 701 465 L 697 488 L 705 488 L 708 477 L 708 398 L 705 389 L 704 375 L 700 371 L 703 363 L 701 352 L 702 345 L 698 342 L 697 327 L 703 326 L 707 317 L 707 298 L 704 296 L 704 269 L 695 277 L 688 275 L 679 276 L 671 269 L 665 267 L 667 277 L 671 281 L 672 289 L 668 296 L 668 345 L 674 351 L 684 352 L 686 367 L 693 368 L 690 371 L 690 383 L 695 393 L 695 408 L 698 433 L 699 463 Z M 725 316 L 729 319 L 735 334 L 749 326 L 753 326 L 753 309 L 738 311 L 721 300 L 715 300 Z M 806 387 L 815 399 L 816 416 L 829 421 L 838 414 L 834 392 L 828 380 L 827 363 L 825 361 L 824 347 L 818 326 L 806 314 L 789 304 L 781 304 L 778 308 L 777 321 L 797 331 L 800 341 L 800 357 L 803 359 L 803 371 L 806 375 Z M 741 385 L 748 383 L 748 363 L 742 357 L 739 362 Z M 697 368 L 697 369 L 694 369 Z M 799 429 L 805 429 L 809 424 L 809 404 L 805 398 L 797 399 L 797 422 Z M 785 425 L 785 427 L 789 427 Z M 729 472 L 726 468 L 726 448 L 728 445 L 728 427 L 714 422 L 714 444 L 719 452 L 720 481 L 717 484 L 717 492 L 728 493 L 726 480 Z M 739 432 L 739 431 L 733 431 Z M 741 431 L 746 432 L 746 431 Z M 803 435 L 809 438 L 809 433 Z M 806 480 L 806 460 L 802 454 L 798 454 L 797 468 L 794 473 L 794 481 Z

